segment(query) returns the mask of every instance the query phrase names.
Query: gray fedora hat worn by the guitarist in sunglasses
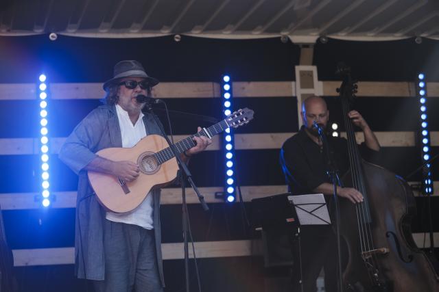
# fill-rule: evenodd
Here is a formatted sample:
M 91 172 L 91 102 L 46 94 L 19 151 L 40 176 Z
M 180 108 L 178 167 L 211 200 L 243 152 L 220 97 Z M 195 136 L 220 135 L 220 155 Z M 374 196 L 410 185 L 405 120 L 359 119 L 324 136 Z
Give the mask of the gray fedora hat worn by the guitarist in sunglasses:
M 107 90 L 108 86 L 117 83 L 117 81 L 125 77 L 143 77 L 150 82 L 151 87 L 158 84 L 157 79 L 146 74 L 142 64 L 136 60 L 124 60 L 115 65 L 112 79 L 106 81 L 102 87 L 104 90 Z

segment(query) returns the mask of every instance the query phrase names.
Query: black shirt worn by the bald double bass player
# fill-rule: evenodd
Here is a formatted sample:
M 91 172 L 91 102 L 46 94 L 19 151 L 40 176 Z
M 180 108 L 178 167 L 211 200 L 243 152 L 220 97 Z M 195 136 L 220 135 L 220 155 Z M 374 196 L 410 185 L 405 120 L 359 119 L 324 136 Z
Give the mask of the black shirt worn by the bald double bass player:
M 341 177 L 349 169 L 347 140 L 330 135 L 327 140 L 334 166 Z M 360 152 L 361 156 L 368 158 L 375 151 L 361 144 Z M 313 189 L 322 183 L 331 183 L 322 148 L 311 140 L 303 126 L 285 141 L 280 158 L 289 191 L 294 195 L 313 194 Z

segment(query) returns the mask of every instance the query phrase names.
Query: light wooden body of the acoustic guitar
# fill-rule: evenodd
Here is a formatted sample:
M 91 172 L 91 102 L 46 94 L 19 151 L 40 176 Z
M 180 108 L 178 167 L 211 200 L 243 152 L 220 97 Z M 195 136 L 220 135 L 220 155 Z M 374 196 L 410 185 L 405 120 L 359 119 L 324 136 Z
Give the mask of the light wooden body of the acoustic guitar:
M 158 164 L 154 153 L 167 148 L 165 138 L 147 135 L 132 148 L 106 148 L 96 154 L 112 161 L 132 161 L 139 164 L 139 177 L 121 185 L 119 179 L 110 174 L 88 172 L 88 180 L 101 204 L 115 213 L 132 211 L 145 200 L 154 187 L 163 187 L 177 176 L 178 164 L 174 158 Z M 123 183 L 123 182 L 122 182 Z

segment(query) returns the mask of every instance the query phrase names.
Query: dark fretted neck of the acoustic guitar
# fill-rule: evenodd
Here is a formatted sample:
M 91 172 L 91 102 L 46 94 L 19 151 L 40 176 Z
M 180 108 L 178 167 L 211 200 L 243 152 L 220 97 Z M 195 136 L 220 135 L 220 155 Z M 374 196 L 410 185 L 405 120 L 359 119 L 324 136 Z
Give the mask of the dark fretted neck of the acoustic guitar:
M 222 120 L 221 122 L 217 122 L 216 124 L 214 124 L 213 126 L 209 127 L 209 128 L 204 128 L 202 129 L 202 131 L 191 135 L 189 137 L 186 137 L 185 139 L 177 142 L 176 144 L 174 144 L 174 149 L 176 150 L 176 152 L 178 154 L 185 152 L 186 150 L 192 148 L 193 146 L 195 146 L 195 142 L 193 142 L 193 137 L 213 137 L 215 135 L 218 135 L 219 133 L 221 133 L 222 131 L 224 131 L 225 129 L 228 128 L 228 124 L 226 122 L 226 120 Z M 162 164 L 166 161 L 168 161 L 169 159 L 174 157 L 174 152 L 172 152 L 171 150 L 171 146 L 160 150 L 158 152 L 156 152 L 154 154 L 154 156 L 156 157 L 157 161 L 159 164 Z

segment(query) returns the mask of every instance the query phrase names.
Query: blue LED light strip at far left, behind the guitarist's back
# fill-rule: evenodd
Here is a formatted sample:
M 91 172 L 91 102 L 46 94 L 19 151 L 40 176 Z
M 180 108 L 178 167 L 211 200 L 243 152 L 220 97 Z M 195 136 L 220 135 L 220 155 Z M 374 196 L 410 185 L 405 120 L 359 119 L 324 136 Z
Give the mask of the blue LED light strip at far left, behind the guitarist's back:
M 38 78 L 38 98 L 40 100 L 40 161 L 41 161 L 41 204 L 43 207 L 50 205 L 50 183 L 49 183 L 49 130 L 48 124 L 48 89 L 47 77 L 41 74 Z

